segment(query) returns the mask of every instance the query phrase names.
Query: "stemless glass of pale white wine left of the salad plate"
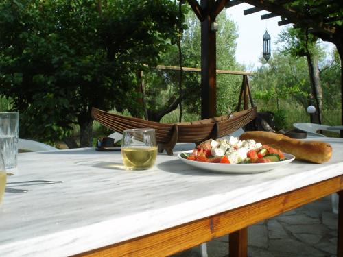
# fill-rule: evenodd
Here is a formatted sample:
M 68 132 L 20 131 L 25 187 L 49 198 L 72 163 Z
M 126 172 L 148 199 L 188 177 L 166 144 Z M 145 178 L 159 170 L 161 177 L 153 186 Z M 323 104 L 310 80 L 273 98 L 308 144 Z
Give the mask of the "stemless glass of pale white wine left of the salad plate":
M 127 169 L 149 169 L 154 166 L 157 156 L 155 130 L 124 130 L 121 156 Z

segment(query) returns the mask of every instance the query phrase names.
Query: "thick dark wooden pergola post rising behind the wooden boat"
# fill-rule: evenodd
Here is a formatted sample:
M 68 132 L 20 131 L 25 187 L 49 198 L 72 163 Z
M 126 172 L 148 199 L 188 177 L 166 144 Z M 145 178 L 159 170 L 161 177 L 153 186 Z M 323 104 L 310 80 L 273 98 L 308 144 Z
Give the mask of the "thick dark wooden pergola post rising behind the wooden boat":
M 214 0 L 201 0 L 202 10 L 211 10 Z M 211 30 L 211 23 L 215 19 L 206 14 L 201 23 L 201 117 L 202 119 L 217 115 L 216 95 L 216 51 L 215 31 Z

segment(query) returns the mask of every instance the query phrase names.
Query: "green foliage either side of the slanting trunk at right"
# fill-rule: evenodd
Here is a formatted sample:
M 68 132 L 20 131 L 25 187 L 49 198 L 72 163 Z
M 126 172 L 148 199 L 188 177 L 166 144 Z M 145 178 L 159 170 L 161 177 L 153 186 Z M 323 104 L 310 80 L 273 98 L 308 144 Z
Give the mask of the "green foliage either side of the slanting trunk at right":
M 323 90 L 322 116 L 323 123 L 338 125 L 340 60 L 336 50 L 331 55 L 331 62 L 320 58 L 319 63 Z M 309 122 L 306 108 L 313 103 L 313 99 L 306 58 L 294 58 L 290 53 L 276 51 L 268 64 L 261 66 L 257 72 L 250 79 L 252 97 L 259 111 L 268 110 L 276 114 L 277 130 L 281 127 L 292 129 L 292 124 L 296 122 Z

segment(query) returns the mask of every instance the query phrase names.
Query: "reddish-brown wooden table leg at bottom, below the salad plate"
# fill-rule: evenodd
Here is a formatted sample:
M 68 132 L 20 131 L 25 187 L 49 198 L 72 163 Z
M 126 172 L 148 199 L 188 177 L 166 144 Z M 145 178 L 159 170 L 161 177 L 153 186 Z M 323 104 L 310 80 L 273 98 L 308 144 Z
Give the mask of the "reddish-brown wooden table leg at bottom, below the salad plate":
M 230 257 L 248 256 L 248 228 L 242 228 L 228 236 L 228 249 Z

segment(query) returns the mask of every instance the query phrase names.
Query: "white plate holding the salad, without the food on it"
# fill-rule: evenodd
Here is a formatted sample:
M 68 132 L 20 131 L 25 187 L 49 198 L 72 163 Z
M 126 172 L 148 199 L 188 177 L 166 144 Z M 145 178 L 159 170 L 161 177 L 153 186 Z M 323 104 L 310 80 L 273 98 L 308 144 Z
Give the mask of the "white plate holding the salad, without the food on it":
M 191 151 L 185 151 L 185 153 L 192 153 Z M 295 157 L 292 154 L 285 154 L 287 160 L 281 162 L 268 162 L 268 163 L 247 163 L 247 164 L 226 164 L 226 163 L 211 163 L 211 162 L 198 162 L 196 160 L 187 160 L 178 154 L 178 158 L 193 167 L 199 169 L 206 169 L 208 171 L 217 171 L 222 173 L 261 173 L 265 171 L 270 171 L 271 169 L 276 169 L 282 167 L 289 162 L 292 162 Z

